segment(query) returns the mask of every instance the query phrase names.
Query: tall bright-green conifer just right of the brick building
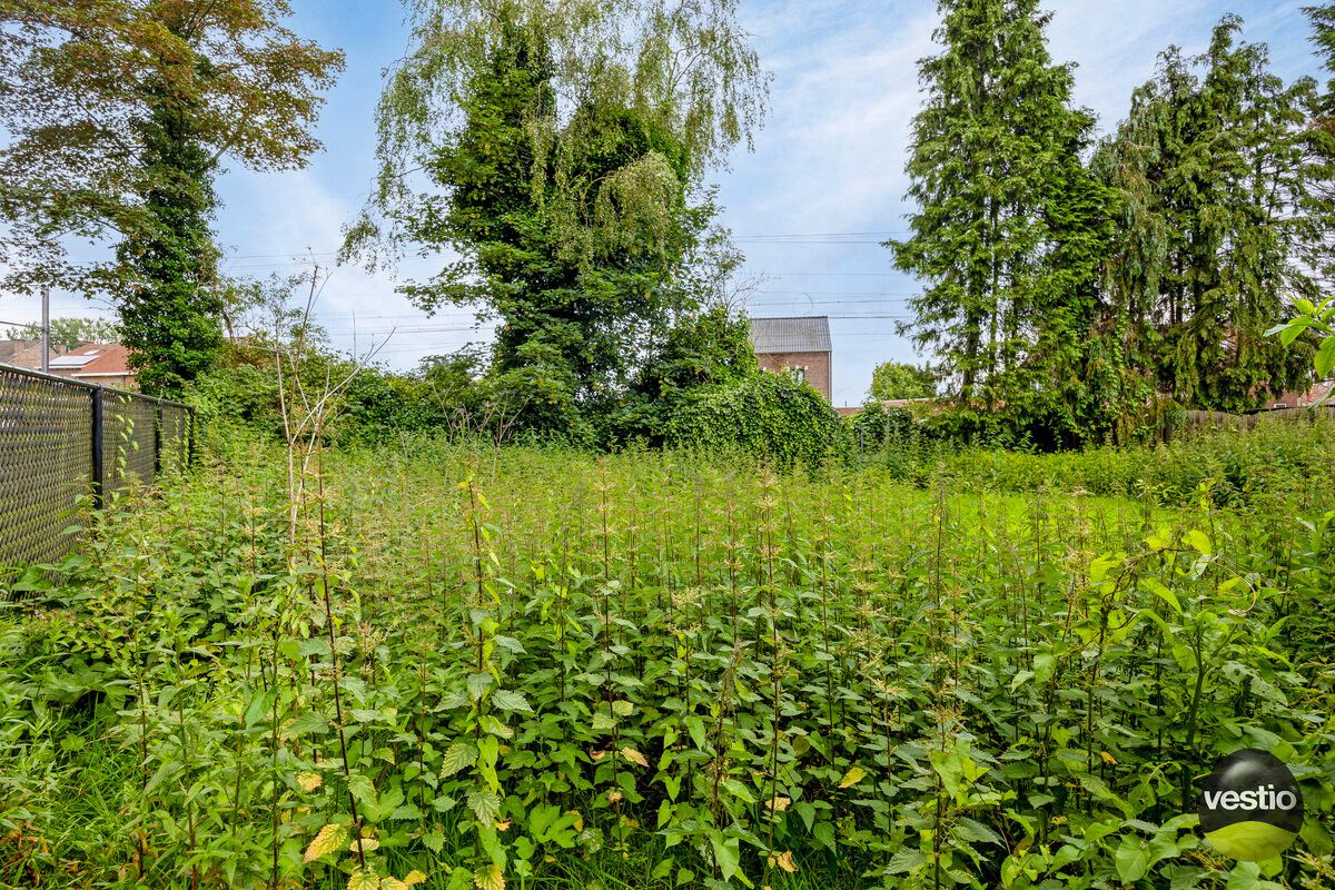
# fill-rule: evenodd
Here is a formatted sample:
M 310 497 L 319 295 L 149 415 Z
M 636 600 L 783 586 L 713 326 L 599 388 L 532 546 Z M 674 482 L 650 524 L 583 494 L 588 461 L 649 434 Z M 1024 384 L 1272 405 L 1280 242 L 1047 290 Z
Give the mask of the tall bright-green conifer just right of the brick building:
M 905 332 L 936 352 L 965 410 L 1080 424 L 1068 382 L 1095 318 L 1107 196 L 1080 152 L 1093 117 L 1071 103 L 1036 0 L 943 0 L 920 63 L 912 235 L 889 242 L 924 283 Z

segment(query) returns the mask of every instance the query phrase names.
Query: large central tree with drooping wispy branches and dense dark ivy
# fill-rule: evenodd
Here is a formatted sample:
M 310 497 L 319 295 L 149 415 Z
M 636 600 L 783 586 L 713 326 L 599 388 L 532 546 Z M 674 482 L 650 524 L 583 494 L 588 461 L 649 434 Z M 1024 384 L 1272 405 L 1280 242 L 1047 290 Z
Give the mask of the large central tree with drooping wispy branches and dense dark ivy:
M 668 328 L 714 213 L 708 172 L 768 77 L 736 0 L 422 0 L 380 99 L 378 188 L 348 247 L 449 251 L 405 291 L 499 322 L 525 423 L 605 415 Z

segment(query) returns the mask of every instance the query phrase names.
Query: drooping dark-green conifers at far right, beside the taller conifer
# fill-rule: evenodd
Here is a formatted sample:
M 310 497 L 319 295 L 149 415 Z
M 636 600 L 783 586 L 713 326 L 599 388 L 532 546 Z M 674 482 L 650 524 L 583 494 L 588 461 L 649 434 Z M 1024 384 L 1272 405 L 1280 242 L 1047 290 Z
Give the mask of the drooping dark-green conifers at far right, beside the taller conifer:
M 1307 356 L 1264 334 L 1314 298 L 1330 217 L 1314 200 L 1311 79 L 1286 85 L 1226 17 L 1210 48 L 1160 56 L 1093 167 L 1119 196 L 1105 311 L 1124 360 L 1188 407 L 1247 411 Z

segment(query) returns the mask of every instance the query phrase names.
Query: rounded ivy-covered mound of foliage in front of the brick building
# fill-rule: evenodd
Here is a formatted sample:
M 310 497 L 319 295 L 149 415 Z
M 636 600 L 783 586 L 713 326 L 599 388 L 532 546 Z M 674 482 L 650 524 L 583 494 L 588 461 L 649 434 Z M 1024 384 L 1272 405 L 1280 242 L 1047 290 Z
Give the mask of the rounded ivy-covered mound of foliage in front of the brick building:
M 846 447 L 834 408 L 782 374 L 754 374 L 700 390 L 669 420 L 669 439 L 684 447 L 740 450 L 785 467 L 817 466 Z

